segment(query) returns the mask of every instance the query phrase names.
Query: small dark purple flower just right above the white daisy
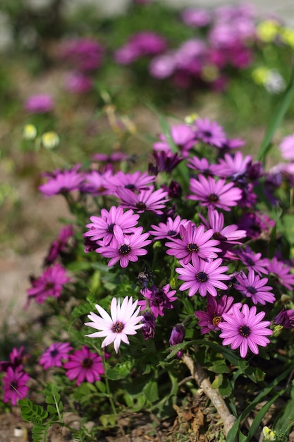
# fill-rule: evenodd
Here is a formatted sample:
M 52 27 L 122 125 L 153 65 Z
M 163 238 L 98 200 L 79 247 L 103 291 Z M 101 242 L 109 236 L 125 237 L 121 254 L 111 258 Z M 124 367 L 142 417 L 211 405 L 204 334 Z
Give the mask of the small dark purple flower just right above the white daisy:
M 156 287 L 155 285 L 152 289 L 142 289 L 141 293 L 143 297 L 149 299 L 149 309 L 154 314 L 154 317 L 164 316 L 164 309 L 173 309 L 173 301 L 178 299 L 174 295 L 176 294 L 176 290 L 170 290 L 170 285 L 166 284 L 164 287 Z M 145 310 L 147 308 L 147 301 L 139 301 L 138 305 L 141 306 L 141 310 Z

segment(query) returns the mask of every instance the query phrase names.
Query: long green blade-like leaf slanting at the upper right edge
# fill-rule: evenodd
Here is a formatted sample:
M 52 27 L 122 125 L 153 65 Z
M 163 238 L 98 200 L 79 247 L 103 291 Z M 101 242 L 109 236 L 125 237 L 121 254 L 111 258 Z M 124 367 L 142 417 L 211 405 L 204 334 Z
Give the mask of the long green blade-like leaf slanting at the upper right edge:
M 257 160 L 264 161 L 269 149 L 271 148 L 271 140 L 278 129 L 278 126 L 281 125 L 283 121 L 283 117 L 286 114 L 288 107 L 293 99 L 294 95 L 294 66 L 290 76 L 290 81 L 286 90 L 281 95 L 281 101 L 278 103 L 274 113 L 272 114 L 271 119 L 269 120 L 269 124 L 267 126 L 267 131 L 264 134 L 264 139 L 262 140 L 262 144 L 260 145 L 259 151 L 257 153 Z

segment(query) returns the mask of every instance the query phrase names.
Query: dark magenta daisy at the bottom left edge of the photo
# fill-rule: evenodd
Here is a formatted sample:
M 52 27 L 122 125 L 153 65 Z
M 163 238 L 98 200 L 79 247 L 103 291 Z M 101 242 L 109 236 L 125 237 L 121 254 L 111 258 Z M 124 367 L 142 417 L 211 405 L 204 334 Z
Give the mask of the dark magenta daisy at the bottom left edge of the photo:
M 11 401 L 12 405 L 16 405 L 19 399 L 25 398 L 29 390 L 27 381 L 30 376 L 19 366 L 15 370 L 11 366 L 8 367 L 6 374 L 2 378 L 4 390 L 4 402 Z

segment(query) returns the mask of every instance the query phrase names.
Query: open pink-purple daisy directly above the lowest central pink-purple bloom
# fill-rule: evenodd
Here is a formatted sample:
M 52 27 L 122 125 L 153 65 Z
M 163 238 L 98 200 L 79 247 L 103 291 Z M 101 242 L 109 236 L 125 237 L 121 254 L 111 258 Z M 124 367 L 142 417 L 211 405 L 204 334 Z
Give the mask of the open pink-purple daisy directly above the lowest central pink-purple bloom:
M 191 261 L 192 256 L 202 259 L 217 258 L 216 253 L 221 249 L 215 247 L 219 241 L 210 239 L 212 235 L 212 229 L 205 232 L 203 225 L 196 227 L 188 222 L 185 226 L 180 226 L 180 239 L 171 238 L 171 242 L 166 242 L 166 247 L 169 247 L 166 253 L 183 259 L 184 264 Z

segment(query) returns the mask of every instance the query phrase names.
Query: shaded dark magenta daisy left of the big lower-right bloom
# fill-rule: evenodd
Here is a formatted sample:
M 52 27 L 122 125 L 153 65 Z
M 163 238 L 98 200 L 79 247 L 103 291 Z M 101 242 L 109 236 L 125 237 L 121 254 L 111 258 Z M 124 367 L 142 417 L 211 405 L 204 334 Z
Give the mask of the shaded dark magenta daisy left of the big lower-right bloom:
M 201 333 L 209 333 L 212 330 L 219 330 L 219 323 L 223 321 L 223 313 L 230 313 L 233 305 L 238 309 L 242 304 L 233 304 L 233 297 L 227 297 L 224 294 L 222 297 L 216 299 L 214 297 L 207 297 L 207 311 L 197 310 L 195 316 L 200 319 L 198 325 L 201 327 Z

